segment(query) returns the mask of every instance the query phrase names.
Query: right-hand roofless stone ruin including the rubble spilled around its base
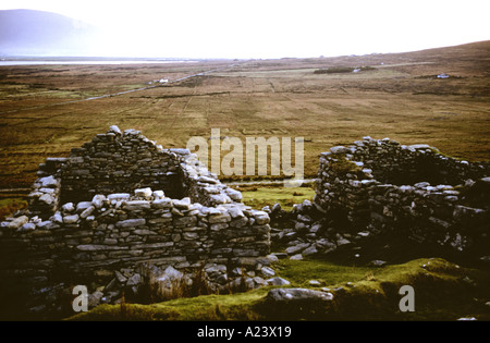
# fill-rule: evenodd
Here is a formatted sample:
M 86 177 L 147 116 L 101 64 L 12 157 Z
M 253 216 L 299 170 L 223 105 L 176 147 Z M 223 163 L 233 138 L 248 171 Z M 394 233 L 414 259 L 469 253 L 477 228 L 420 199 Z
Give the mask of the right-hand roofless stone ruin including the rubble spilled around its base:
M 279 204 L 266 208 L 271 240 L 295 259 L 343 252 L 344 261 L 345 256 L 352 261 L 365 256 L 383 265 L 379 256 L 414 248 L 415 257 L 443 253 L 488 264 L 489 175 L 490 162 L 454 159 L 428 145 L 364 137 L 320 154 L 313 203 L 305 200 L 290 212 Z

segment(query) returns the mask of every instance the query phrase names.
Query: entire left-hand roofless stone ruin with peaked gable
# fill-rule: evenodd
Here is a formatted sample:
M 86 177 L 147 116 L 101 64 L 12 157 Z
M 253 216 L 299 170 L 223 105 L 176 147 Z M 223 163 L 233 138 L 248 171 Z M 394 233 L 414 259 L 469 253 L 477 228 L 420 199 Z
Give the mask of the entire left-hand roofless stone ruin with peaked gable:
M 199 273 L 217 293 L 273 274 L 268 213 L 187 149 L 135 130 L 111 126 L 70 157 L 48 158 L 28 198 L 0 225 L 2 305 L 27 314 L 70 313 L 75 285 L 97 305 L 137 296 L 149 281 L 191 285 Z

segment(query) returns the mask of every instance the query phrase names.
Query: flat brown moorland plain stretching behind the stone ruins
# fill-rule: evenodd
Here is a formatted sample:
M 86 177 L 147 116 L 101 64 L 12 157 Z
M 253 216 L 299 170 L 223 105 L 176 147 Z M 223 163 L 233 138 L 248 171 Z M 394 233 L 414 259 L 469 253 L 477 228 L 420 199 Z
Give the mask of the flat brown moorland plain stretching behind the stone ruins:
M 329 68 L 360 71 L 315 73 Z M 187 75 L 196 76 L 176 82 Z M 47 157 L 112 124 L 163 147 L 211 128 L 242 142 L 304 137 L 306 177 L 321 151 L 366 135 L 490 160 L 489 105 L 490 41 L 338 58 L 0 66 L 0 188 L 28 187 Z

